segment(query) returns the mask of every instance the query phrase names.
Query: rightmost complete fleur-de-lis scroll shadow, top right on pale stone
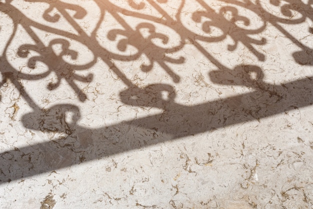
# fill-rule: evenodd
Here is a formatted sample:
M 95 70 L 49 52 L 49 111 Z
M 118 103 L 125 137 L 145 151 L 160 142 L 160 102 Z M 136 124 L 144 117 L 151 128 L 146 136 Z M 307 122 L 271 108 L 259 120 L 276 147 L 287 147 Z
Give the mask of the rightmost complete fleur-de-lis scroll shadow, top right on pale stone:
M 226 19 L 225 14 L 228 13 L 231 18 Z M 240 16 L 238 14 L 238 10 L 234 7 L 222 7 L 218 14 L 216 14 L 213 10 L 209 12 L 195 12 L 192 14 L 192 20 L 196 23 L 201 22 L 201 18 L 205 17 L 210 19 L 211 21 L 205 21 L 202 24 L 202 30 L 205 33 L 210 32 L 210 26 L 214 26 L 222 30 L 223 34 L 218 37 L 206 38 L 206 37 L 196 37 L 197 39 L 208 41 L 208 42 L 216 42 L 221 41 L 226 37 L 226 35 L 230 36 L 234 41 L 233 45 L 228 45 L 227 49 L 229 51 L 233 51 L 236 49 L 238 42 L 241 42 L 244 46 L 246 46 L 250 52 L 252 52 L 260 61 L 265 60 L 265 56 L 258 52 L 252 44 L 263 45 L 265 44 L 265 39 L 261 38 L 260 40 L 252 39 L 248 35 L 250 34 L 258 34 L 265 29 L 265 23 L 256 30 L 245 30 L 243 28 L 239 28 L 236 25 L 236 22 L 243 22 L 245 26 L 250 25 L 250 20 L 246 17 Z

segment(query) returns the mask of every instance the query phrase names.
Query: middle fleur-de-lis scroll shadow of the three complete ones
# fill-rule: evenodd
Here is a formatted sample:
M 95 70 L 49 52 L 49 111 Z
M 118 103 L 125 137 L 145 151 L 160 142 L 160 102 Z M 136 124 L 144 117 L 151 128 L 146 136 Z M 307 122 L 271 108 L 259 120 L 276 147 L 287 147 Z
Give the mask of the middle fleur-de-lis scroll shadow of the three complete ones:
M 144 38 L 142 34 L 140 33 L 141 29 L 147 29 L 148 30 L 148 37 Z M 177 74 L 175 74 L 166 64 L 165 62 L 169 63 L 176 63 L 176 64 L 182 64 L 184 62 L 183 57 L 179 57 L 178 59 L 173 59 L 166 54 L 175 52 L 179 50 L 183 45 L 180 44 L 177 47 L 166 49 L 156 46 L 153 43 L 153 39 L 160 39 L 163 44 L 168 43 L 168 37 L 164 34 L 156 33 L 155 32 L 155 26 L 153 26 L 150 23 L 141 23 L 137 25 L 136 30 L 133 32 L 129 32 L 126 30 L 120 30 L 120 29 L 114 29 L 109 31 L 107 34 L 107 37 L 111 41 L 115 41 L 117 35 L 122 35 L 126 38 L 119 40 L 117 44 L 117 49 L 121 52 L 124 52 L 127 48 L 127 45 L 131 45 L 135 47 L 138 50 L 138 53 L 136 55 L 132 56 L 116 56 L 118 59 L 124 58 L 124 59 L 136 59 L 140 56 L 140 54 L 144 54 L 148 59 L 150 64 L 141 65 L 141 70 L 143 72 L 148 72 L 152 69 L 153 63 L 157 62 L 165 71 L 166 73 L 173 79 L 175 83 L 179 82 L 180 78 Z

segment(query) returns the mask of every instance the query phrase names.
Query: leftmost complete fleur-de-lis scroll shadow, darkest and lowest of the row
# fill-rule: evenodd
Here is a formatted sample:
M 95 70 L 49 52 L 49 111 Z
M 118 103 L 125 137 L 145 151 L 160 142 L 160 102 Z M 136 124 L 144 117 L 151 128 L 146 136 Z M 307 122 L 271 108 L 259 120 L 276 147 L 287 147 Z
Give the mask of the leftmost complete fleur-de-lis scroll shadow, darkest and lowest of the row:
M 62 51 L 59 55 L 56 55 L 52 49 L 53 45 L 60 44 L 62 47 Z M 47 76 L 52 71 L 55 73 L 57 77 L 57 81 L 55 83 L 50 82 L 47 86 L 49 90 L 55 89 L 59 86 L 61 79 L 65 79 L 66 82 L 70 85 L 70 87 L 75 91 L 78 95 L 80 101 L 85 101 L 86 95 L 79 90 L 78 86 L 74 83 L 74 80 L 81 82 L 90 82 L 92 80 L 92 74 L 88 74 L 87 76 L 81 76 L 75 74 L 75 70 L 86 69 L 89 66 L 92 66 L 95 61 L 90 62 L 84 66 L 76 66 L 71 65 L 65 62 L 62 57 L 70 56 L 72 60 L 77 58 L 77 52 L 69 49 L 69 42 L 64 39 L 54 39 L 49 43 L 49 46 L 44 49 L 39 49 L 36 45 L 25 44 L 19 47 L 17 55 L 19 57 L 27 57 L 29 51 L 34 51 L 40 54 L 40 56 L 33 56 L 28 60 L 28 67 L 34 69 L 37 62 L 42 62 L 46 64 L 49 68 L 48 71 L 39 74 L 39 75 L 31 75 L 32 80 L 40 79 L 42 77 Z M 26 78 L 29 80 L 29 76 L 25 74 L 20 74 L 19 77 Z

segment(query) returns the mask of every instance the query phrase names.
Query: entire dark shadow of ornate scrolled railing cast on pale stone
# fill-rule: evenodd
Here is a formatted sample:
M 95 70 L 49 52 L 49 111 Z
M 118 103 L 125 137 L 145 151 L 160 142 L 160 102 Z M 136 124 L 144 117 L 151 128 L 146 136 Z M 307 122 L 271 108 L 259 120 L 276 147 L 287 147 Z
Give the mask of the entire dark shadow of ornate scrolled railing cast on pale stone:
M 0 2 L 1 15 L 8 16 L 12 20 L 13 26 L 12 35 L 4 44 L 5 47 L 0 57 L 1 83 L 3 84 L 10 80 L 24 100 L 27 101 L 29 107 L 32 108 L 31 113 L 25 114 L 21 118 L 25 128 L 42 132 L 64 133 L 66 137 L 62 140 L 52 140 L 0 153 L 0 156 L 3 158 L 0 162 L 1 182 L 77 164 L 81 162 L 82 156 L 85 161 L 93 160 L 126 150 L 156 144 L 161 141 L 173 140 L 241 122 L 260 120 L 286 110 L 313 104 L 312 77 L 281 85 L 267 84 L 263 81 L 263 72 L 259 66 L 237 65 L 229 69 L 209 53 L 207 48 L 200 44 L 201 42 L 220 42 L 225 40 L 226 37 L 230 37 L 233 44 L 228 45 L 228 51 L 235 50 L 238 43 L 241 43 L 258 61 L 262 62 L 266 59 L 266 54 L 258 51 L 254 46 L 264 45 L 266 38 L 259 37 L 259 39 L 254 39 L 251 38 L 251 35 L 255 37 L 255 35 L 261 34 L 267 25 L 271 24 L 296 47 L 300 48 L 300 51 L 292 54 L 293 60 L 299 66 L 312 66 L 313 54 L 311 46 L 305 46 L 281 26 L 282 24 L 301 24 L 307 19 L 313 21 L 312 1 L 308 1 L 307 4 L 291 0 L 285 1 L 285 3 L 281 3 L 279 0 L 270 1 L 269 3 L 272 6 L 280 8 L 281 14 L 278 17 L 265 10 L 260 1 L 220 1 L 223 4 L 216 11 L 209 6 L 207 1 L 196 0 L 194 2 L 201 7 L 201 11 L 194 11 L 190 16 L 189 22 L 193 23 L 194 26 L 201 26 L 201 34 L 193 32 L 193 29 L 188 28 L 184 23 L 183 11 L 190 4 L 185 0 L 179 1 L 179 4 L 177 3 L 175 15 L 169 15 L 162 9 L 161 6 L 166 6 L 167 4 L 166 0 L 156 2 L 146 0 L 140 3 L 129 0 L 128 9 L 117 6 L 112 1 L 95 0 L 93 3 L 98 7 L 100 13 L 94 29 L 89 34 L 76 22 L 76 20 L 82 19 L 87 15 L 87 11 L 79 5 L 62 1 L 50 1 L 47 3 L 39 0 L 23 1 L 28 4 L 48 4 L 48 8 L 42 12 L 42 19 L 47 23 L 57 23 L 60 18 L 63 18 L 76 31 L 76 33 L 71 33 L 31 20 L 22 11 L 18 10 L 13 2 L 7 0 Z M 159 17 L 141 13 L 140 11 L 145 7 L 150 7 L 157 11 Z M 238 8 L 243 8 L 245 11 L 253 13 L 257 20 L 260 20 L 260 23 L 254 28 L 252 27 L 252 29 L 247 29 L 247 27 L 251 26 L 252 19 L 240 14 Z M 74 14 L 70 15 L 71 13 L 68 11 L 74 12 Z M 118 29 L 108 31 L 106 37 L 107 41 L 116 43 L 116 49 L 119 52 L 111 52 L 99 44 L 99 29 L 101 24 L 105 23 L 104 17 L 107 13 L 122 27 L 122 29 L 119 27 Z M 125 17 L 140 19 L 141 23 L 131 25 L 131 23 L 124 20 Z M 179 40 L 178 44 L 167 46 L 171 37 L 166 33 L 157 32 L 155 27 L 157 24 L 173 30 L 177 34 L 175 38 Z M 240 24 L 243 24 L 242 27 L 238 26 Z M 23 28 L 33 43 L 22 43 L 17 49 L 13 49 L 16 52 L 16 57 L 28 58 L 27 68 L 30 71 L 37 68 L 38 62 L 44 63 L 46 69 L 42 69 L 42 73 L 27 74 L 20 72 L 11 65 L 11 61 L 7 56 L 11 43 L 16 38 L 18 27 Z M 46 46 L 40 41 L 40 37 L 34 33 L 34 28 L 63 38 L 55 38 Z M 217 35 L 213 34 L 213 29 L 218 30 Z M 142 34 L 142 30 L 146 31 L 145 35 Z M 307 30 L 308 33 L 313 33 L 311 27 L 308 26 Z M 0 30 L 0 36 L 1 33 L 2 31 Z M 120 39 L 120 37 L 123 38 Z M 78 52 L 70 49 L 68 40 L 74 40 L 86 46 L 92 53 L 93 58 L 88 63 L 82 65 L 64 61 L 64 56 L 68 56 L 71 60 L 76 60 L 78 54 Z M 156 44 L 155 40 L 161 42 L 163 47 Z M 249 87 L 253 91 L 195 106 L 184 106 L 175 103 L 173 86 L 159 83 L 138 87 L 114 64 L 114 61 L 134 61 L 141 55 L 145 55 L 149 60 L 149 64 L 143 63 L 141 71 L 148 72 L 153 68 L 154 64 L 158 64 L 174 83 L 179 83 L 181 81 L 179 72 L 175 72 L 175 69 L 171 69 L 167 63 L 183 65 L 185 57 L 180 56 L 174 59 L 168 55 L 180 51 L 186 43 L 191 43 L 199 53 L 219 69 L 209 73 L 209 78 L 213 83 L 241 85 Z M 61 46 L 62 50 L 59 54 L 53 51 L 54 45 Z M 134 49 L 133 53 L 125 54 L 129 47 Z M 32 53 L 30 52 L 37 55 L 31 56 Z M 107 65 L 107 70 L 113 71 L 127 86 L 126 90 L 120 92 L 121 102 L 133 106 L 156 107 L 161 109 L 162 113 L 123 121 L 97 129 L 79 127 L 76 123 L 80 117 L 78 106 L 58 104 L 48 109 L 41 109 L 37 102 L 33 100 L 32 95 L 20 83 L 20 80 L 41 80 L 53 72 L 56 75 L 56 82 L 49 82 L 47 84 L 48 90 L 59 88 L 60 80 L 64 79 L 73 89 L 80 102 L 84 102 L 87 99 L 87 95 L 79 89 L 75 82 L 89 83 L 94 75 L 88 73 L 85 76 L 81 76 L 76 71 L 83 72 L 90 69 L 98 59 L 101 59 Z M 256 77 L 250 77 L 251 73 L 256 74 Z M 161 96 L 161 92 L 167 92 L 168 98 L 164 99 Z M 4 96 L 2 95 L 2 97 Z M 63 120 L 66 112 L 73 113 L 72 123 L 67 123 Z M 47 124 L 44 121 L 54 121 L 54 123 Z M 119 133 L 114 133 L 116 128 L 120 130 Z M 149 134 L 144 138 L 139 137 L 140 130 L 144 130 Z M 93 137 L 96 134 L 103 137 Z M 85 139 L 88 137 L 89 139 Z M 79 141 L 87 142 L 82 145 Z M 25 161 L 25 158 L 22 157 L 24 155 L 40 156 L 42 159 L 38 160 L 37 157 L 30 157 L 27 158 L 28 161 Z M 45 164 L 45 166 L 42 166 L 41 163 Z

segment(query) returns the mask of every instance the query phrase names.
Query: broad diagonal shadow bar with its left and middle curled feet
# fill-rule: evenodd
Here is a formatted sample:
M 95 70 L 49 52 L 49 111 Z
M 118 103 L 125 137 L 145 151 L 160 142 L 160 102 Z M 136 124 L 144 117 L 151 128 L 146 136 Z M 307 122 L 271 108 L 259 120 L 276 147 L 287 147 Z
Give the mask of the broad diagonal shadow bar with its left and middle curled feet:
M 79 109 L 68 104 L 54 106 L 41 115 L 36 112 L 25 115 L 22 122 L 26 128 L 65 133 L 66 136 L 0 153 L 0 183 L 310 106 L 313 104 L 313 77 L 255 88 L 250 93 L 195 106 L 175 103 L 172 87 L 162 84 L 143 90 L 130 89 L 121 92 L 120 97 L 124 103 L 135 105 L 131 99 L 133 95 L 139 97 L 136 101 L 140 101 L 140 97 L 149 101 L 149 94 L 156 95 L 157 99 L 161 91 L 169 93 L 168 99 L 152 102 L 164 109 L 161 114 L 99 129 L 76 125 Z M 72 113 L 72 122 L 64 120 L 66 112 Z M 46 124 L 46 121 L 51 123 Z

